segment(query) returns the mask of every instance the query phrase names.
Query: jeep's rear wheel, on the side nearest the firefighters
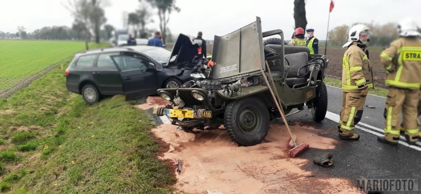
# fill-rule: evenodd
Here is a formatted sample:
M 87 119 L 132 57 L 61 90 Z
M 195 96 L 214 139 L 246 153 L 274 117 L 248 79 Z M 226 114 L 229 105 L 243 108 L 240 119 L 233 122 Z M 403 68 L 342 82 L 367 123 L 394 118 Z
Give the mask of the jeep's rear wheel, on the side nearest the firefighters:
M 328 111 L 328 90 L 326 89 L 325 82 L 322 81 L 318 87 L 316 98 L 313 100 L 313 108 L 311 108 L 311 115 L 316 122 L 325 119 L 326 112 Z

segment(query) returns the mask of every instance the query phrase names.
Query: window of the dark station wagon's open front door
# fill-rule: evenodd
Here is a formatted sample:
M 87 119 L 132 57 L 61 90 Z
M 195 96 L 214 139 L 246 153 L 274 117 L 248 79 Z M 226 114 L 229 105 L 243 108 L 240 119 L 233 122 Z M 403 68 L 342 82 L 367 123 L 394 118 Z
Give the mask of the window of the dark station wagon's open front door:
M 146 70 L 149 67 L 149 62 L 145 59 L 127 55 L 114 56 L 113 58 L 122 72 L 133 70 Z

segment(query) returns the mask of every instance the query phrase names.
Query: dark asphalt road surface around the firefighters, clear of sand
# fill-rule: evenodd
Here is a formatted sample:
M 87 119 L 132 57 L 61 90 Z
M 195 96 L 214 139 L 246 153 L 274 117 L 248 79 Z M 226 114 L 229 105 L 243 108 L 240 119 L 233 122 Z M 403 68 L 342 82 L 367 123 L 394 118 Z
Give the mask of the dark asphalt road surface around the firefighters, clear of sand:
M 382 135 L 384 128 L 384 97 L 369 95 L 366 105 L 376 108 L 365 107 L 363 118 L 356 126 L 356 133 L 361 138 L 359 141 L 343 141 L 338 137 L 337 121 L 342 103 L 342 91 L 340 88 L 327 87 L 328 89 L 328 114 L 321 123 L 314 123 L 308 110 L 288 116 L 290 122 L 299 121 L 324 129 L 319 135 L 338 140 L 336 149 L 330 150 L 333 154 L 333 166 L 326 168 L 313 163 L 305 165 L 305 168 L 314 172 L 317 177 L 344 177 L 357 182 L 362 177 L 371 179 L 419 179 L 421 178 L 421 142 L 416 146 L 409 146 L 405 141 L 400 141 L 398 146 L 390 146 L 377 141 Z M 401 137 L 402 139 L 403 137 Z M 403 140 L 403 139 L 402 139 Z M 301 157 L 313 158 L 323 155 L 326 150 L 310 148 Z M 421 186 L 421 184 L 420 184 Z M 405 192 L 421 193 L 419 192 Z M 383 192 L 387 193 L 387 192 Z M 396 192 L 389 192 L 396 194 Z

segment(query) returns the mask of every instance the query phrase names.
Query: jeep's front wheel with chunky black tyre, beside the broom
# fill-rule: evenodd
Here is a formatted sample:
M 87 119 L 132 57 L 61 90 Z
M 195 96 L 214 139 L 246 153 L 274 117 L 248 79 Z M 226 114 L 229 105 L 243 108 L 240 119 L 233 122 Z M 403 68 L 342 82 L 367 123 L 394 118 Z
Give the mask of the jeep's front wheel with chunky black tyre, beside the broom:
M 257 98 L 244 98 L 228 103 L 224 126 L 230 138 L 239 146 L 254 146 L 269 131 L 269 111 Z

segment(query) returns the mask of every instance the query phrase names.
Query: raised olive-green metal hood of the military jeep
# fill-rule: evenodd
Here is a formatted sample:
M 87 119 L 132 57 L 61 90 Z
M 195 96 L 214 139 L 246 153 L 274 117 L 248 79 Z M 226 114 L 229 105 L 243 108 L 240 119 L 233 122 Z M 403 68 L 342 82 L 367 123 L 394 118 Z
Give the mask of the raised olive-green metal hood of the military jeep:
M 209 78 L 242 77 L 265 69 L 260 18 L 228 35 L 213 40 L 212 67 Z

